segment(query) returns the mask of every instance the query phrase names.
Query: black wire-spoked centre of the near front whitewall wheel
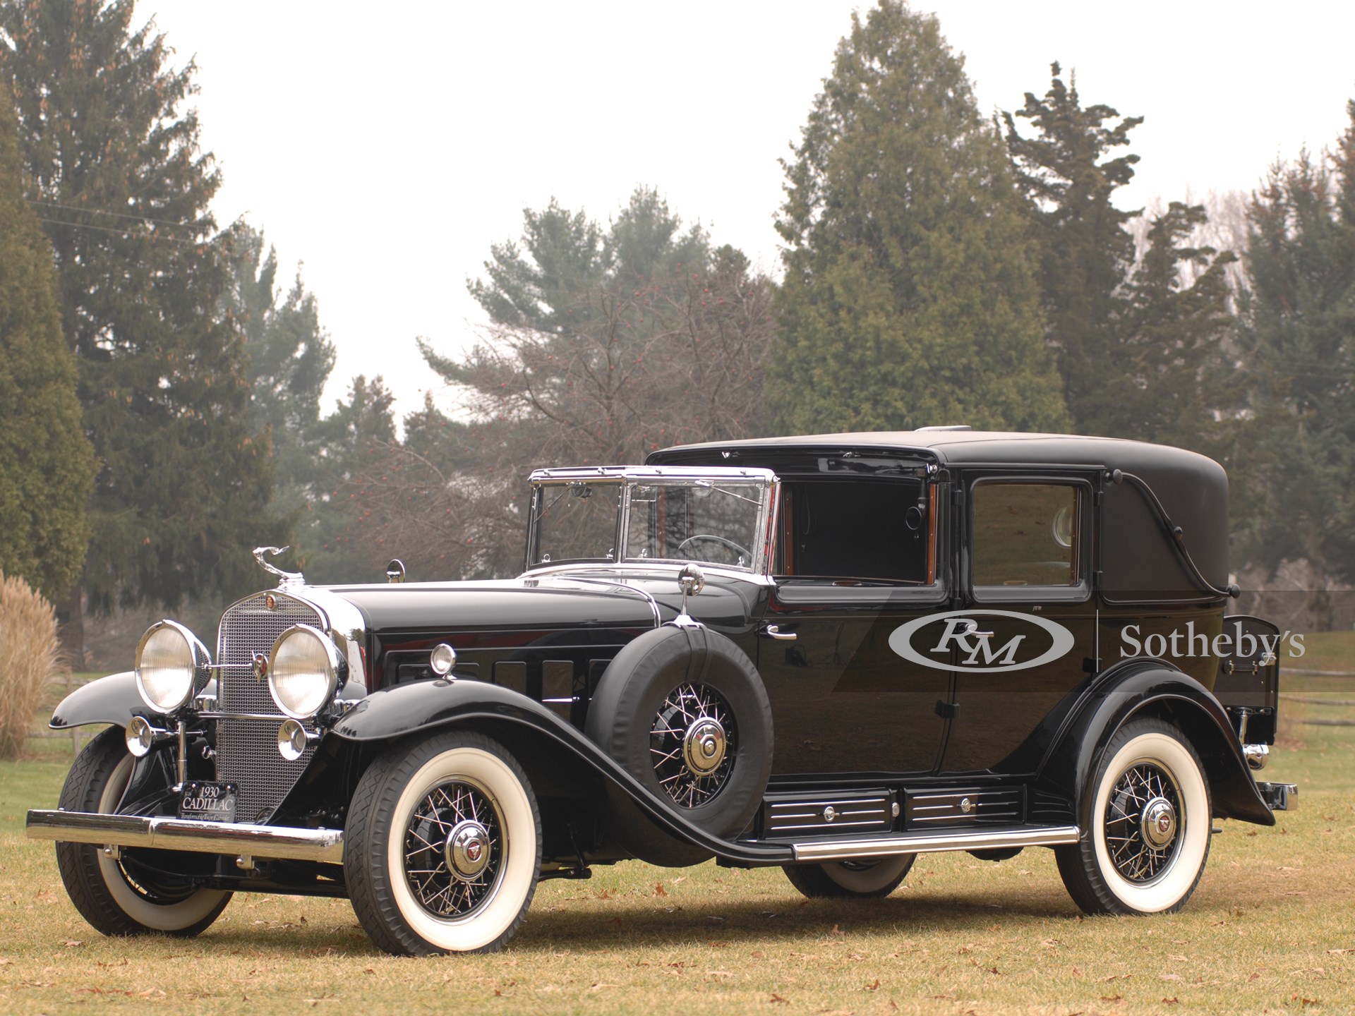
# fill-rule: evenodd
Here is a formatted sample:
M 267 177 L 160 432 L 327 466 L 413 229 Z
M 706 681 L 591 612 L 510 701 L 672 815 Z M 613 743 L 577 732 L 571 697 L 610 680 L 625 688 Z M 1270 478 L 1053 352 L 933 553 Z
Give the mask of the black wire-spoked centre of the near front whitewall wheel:
M 473 783 L 442 783 L 424 794 L 405 826 L 405 881 L 435 917 L 461 918 L 499 887 L 507 858 L 495 799 Z

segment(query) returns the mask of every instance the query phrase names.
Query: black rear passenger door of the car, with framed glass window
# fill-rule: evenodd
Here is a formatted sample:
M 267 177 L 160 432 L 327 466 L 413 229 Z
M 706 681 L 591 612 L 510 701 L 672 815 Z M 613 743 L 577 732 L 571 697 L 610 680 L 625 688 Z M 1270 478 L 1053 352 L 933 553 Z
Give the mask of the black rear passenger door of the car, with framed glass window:
M 1031 734 L 1095 668 L 1091 474 L 963 477 L 963 606 L 954 650 L 943 774 L 1023 772 Z

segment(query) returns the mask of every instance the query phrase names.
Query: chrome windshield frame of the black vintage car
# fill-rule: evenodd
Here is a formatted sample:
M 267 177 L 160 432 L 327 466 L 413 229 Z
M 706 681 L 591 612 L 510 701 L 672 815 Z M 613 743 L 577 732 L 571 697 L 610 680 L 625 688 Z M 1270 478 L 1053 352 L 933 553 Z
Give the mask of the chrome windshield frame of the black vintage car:
M 554 488 L 564 488 L 569 484 L 588 481 L 591 484 L 617 484 L 621 486 L 621 505 L 618 509 L 618 524 L 615 534 L 614 558 L 606 555 L 588 558 L 568 558 L 561 561 L 537 561 L 539 523 L 538 509 L 541 500 L 550 496 Z M 553 569 L 561 565 L 603 565 L 614 568 L 617 565 L 680 565 L 690 558 L 664 557 L 629 557 L 630 546 L 630 513 L 634 490 L 641 484 L 668 482 L 682 484 L 683 481 L 695 484 L 706 481 L 710 484 L 757 484 L 762 490 L 762 504 L 757 508 L 757 519 L 753 527 L 755 546 L 752 561 L 748 566 L 720 565 L 721 569 L 751 576 L 770 576 L 771 572 L 771 534 L 775 524 L 775 515 L 780 504 L 780 481 L 770 469 L 726 467 L 726 466 L 591 466 L 573 469 L 538 469 L 534 470 L 531 482 L 530 515 L 527 520 L 527 559 L 526 570 Z M 696 562 L 705 564 L 705 562 Z

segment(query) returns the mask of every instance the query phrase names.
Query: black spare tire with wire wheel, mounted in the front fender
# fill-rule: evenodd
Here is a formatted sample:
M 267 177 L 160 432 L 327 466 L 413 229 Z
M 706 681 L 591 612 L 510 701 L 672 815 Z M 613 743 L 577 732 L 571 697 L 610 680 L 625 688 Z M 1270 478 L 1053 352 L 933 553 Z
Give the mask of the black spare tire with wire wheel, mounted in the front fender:
M 757 814 L 771 775 L 771 703 L 752 661 L 718 631 L 664 625 L 627 643 L 603 672 L 584 730 L 714 836 L 734 836 Z M 691 852 L 664 851 L 650 822 L 615 817 L 614 832 L 637 856 L 695 863 L 678 860 Z

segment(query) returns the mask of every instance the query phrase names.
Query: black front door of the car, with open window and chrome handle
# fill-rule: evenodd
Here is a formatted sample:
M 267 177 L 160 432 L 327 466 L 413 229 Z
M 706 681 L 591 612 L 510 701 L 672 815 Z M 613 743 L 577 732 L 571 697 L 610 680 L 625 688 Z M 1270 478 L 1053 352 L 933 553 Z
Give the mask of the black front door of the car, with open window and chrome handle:
M 936 496 L 915 478 L 783 478 L 757 639 L 774 779 L 935 768 L 950 675 L 905 660 L 890 639 L 944 604 Z

